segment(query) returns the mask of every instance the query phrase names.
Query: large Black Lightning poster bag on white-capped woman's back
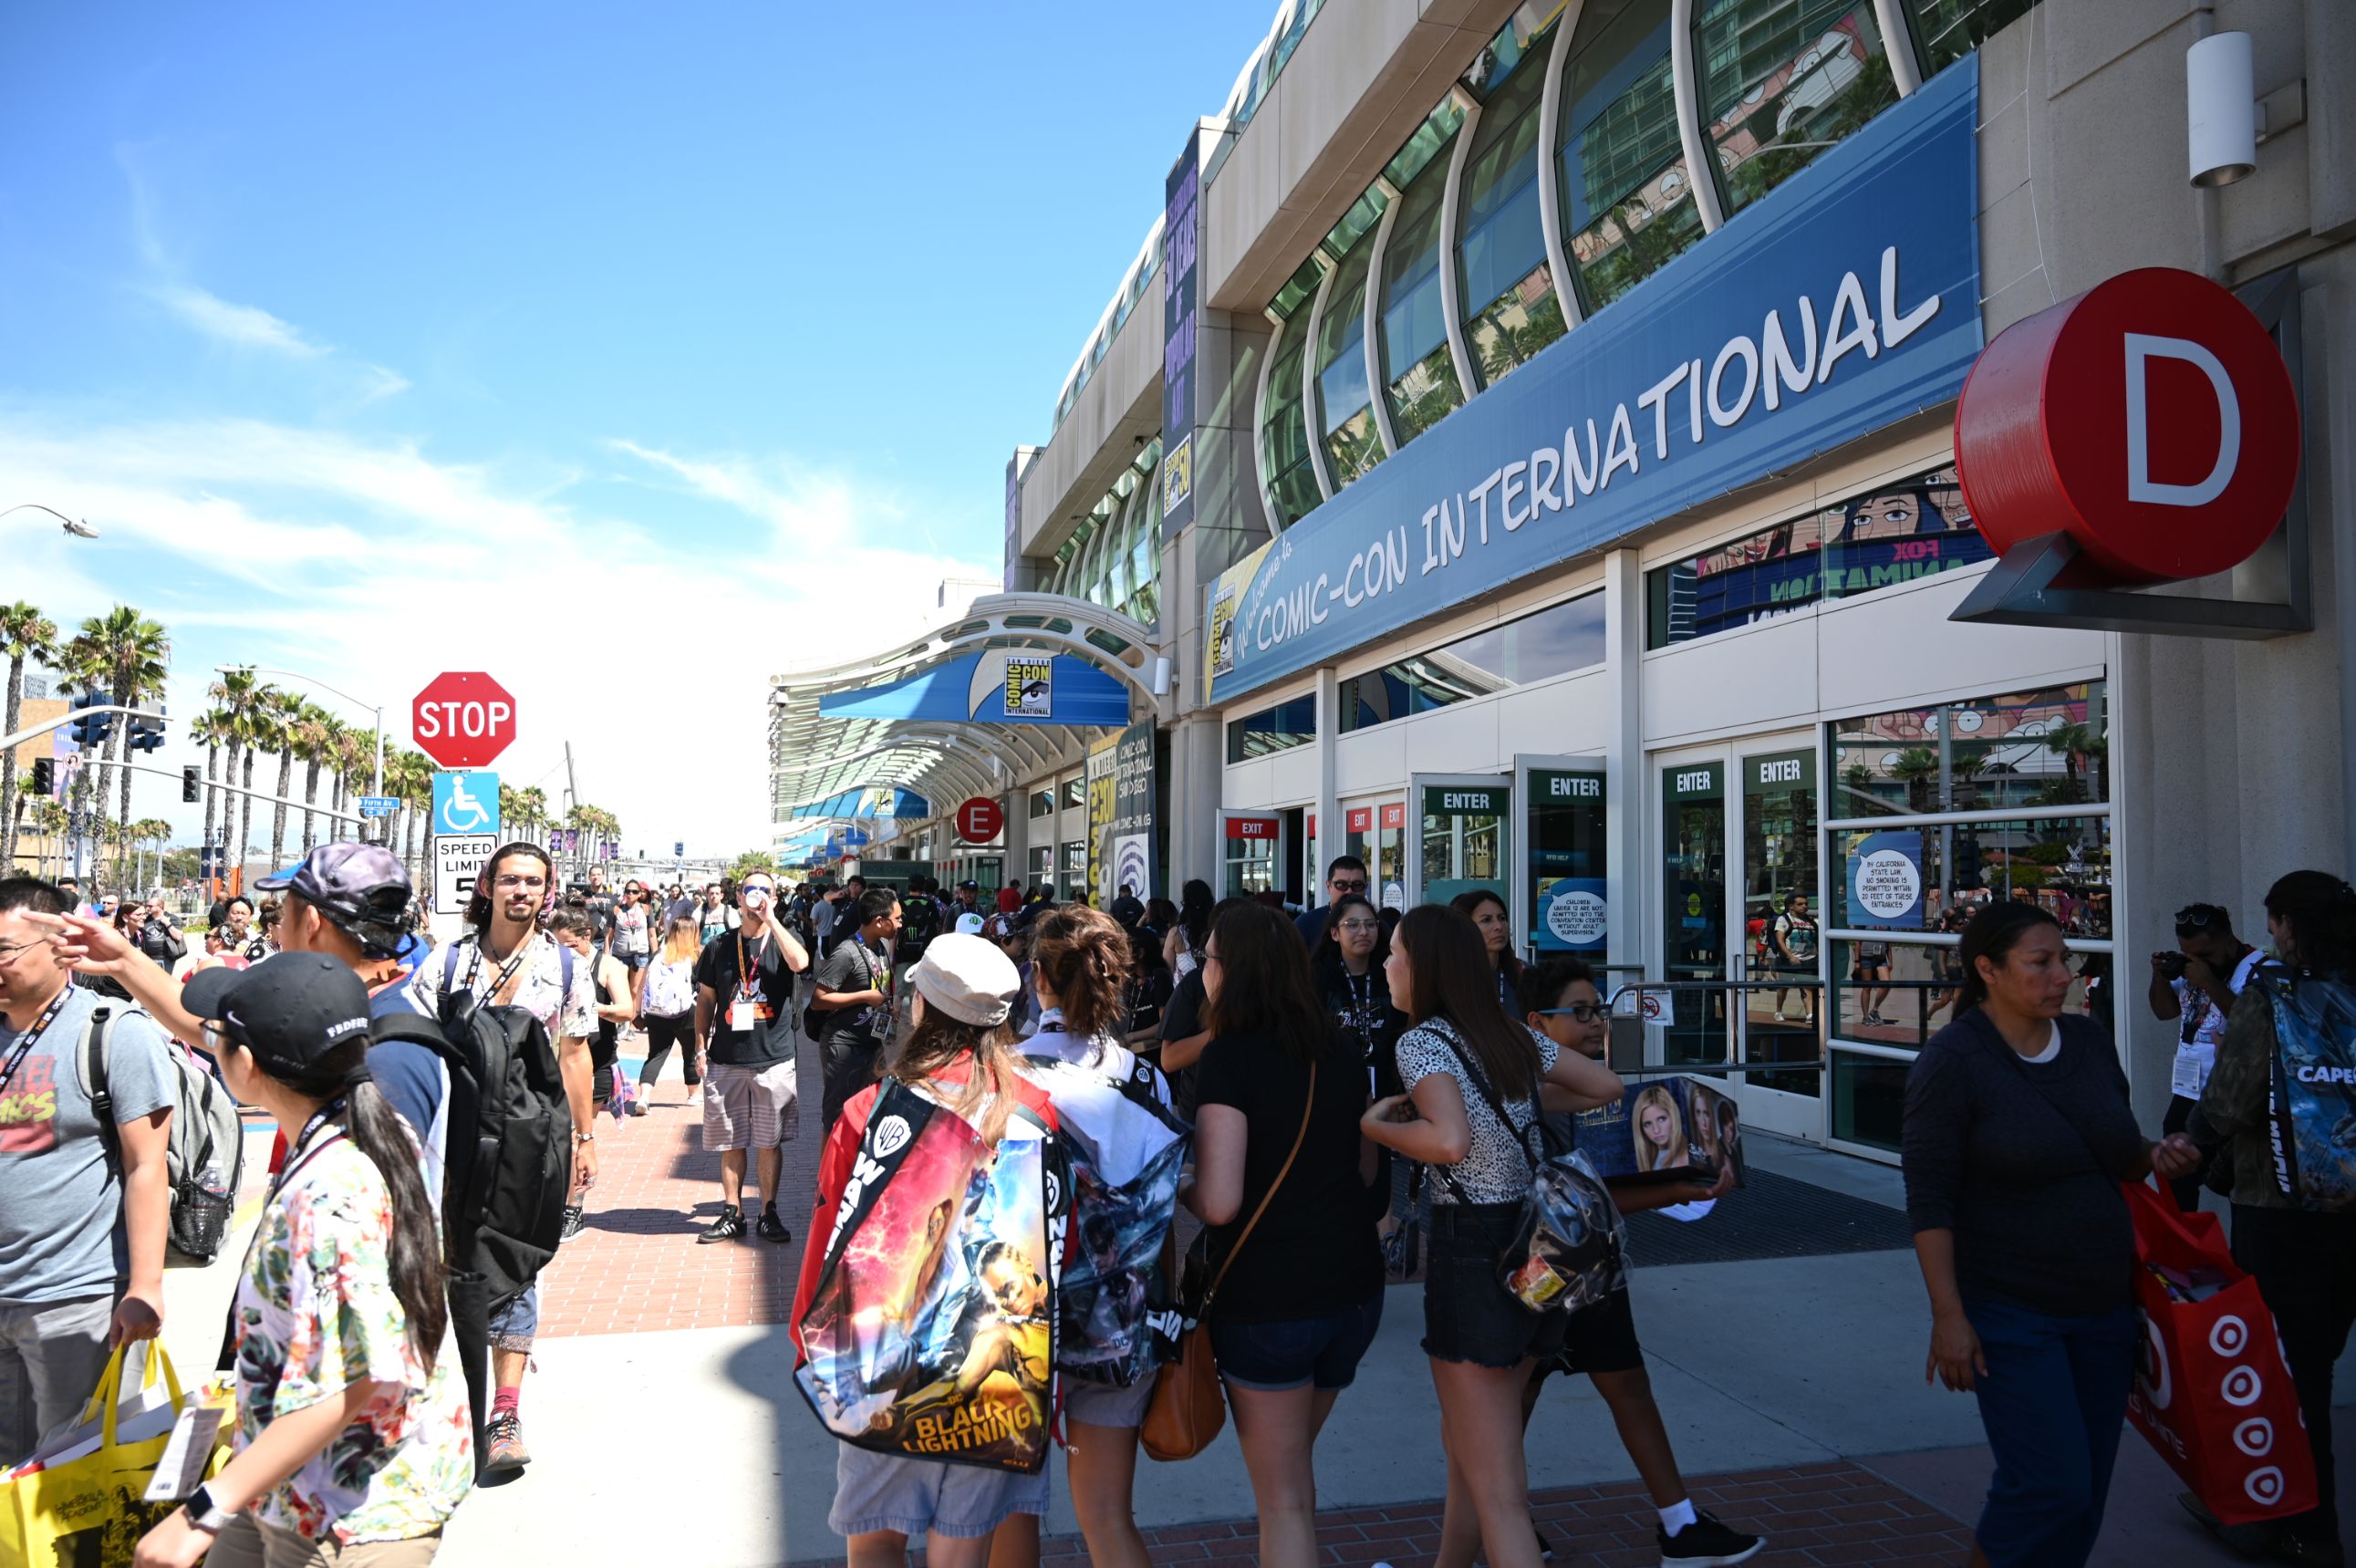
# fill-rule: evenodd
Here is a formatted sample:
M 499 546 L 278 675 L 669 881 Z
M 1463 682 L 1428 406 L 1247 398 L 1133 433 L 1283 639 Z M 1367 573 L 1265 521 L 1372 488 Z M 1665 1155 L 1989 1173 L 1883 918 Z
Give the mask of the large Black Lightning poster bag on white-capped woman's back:
M 827 1431 L 1037 1474 L 1055 1415 L 1067 1203 L 1063 1144 L 1027 1107 L 992 1149 L 886 1078 L 801 1318 L 794 1382 Z

